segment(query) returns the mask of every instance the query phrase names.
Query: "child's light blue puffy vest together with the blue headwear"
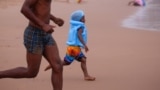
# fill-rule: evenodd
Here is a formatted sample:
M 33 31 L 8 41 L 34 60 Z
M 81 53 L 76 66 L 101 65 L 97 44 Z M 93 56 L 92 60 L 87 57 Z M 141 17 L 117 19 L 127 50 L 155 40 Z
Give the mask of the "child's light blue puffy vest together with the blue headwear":
M 80 46 L 84 47 L 81 41 L 78 38 L 78 29 L 82 28 L 82 38 L 85 43 L 87 43 L 87 29 L 83 22 L 81 22 L 81 18 L 84 16 L 84 12 L 82 10 L 77 10 L 71 14 L 70 18 L 70 29 L 68 33 L 67 45 L 69 46 Z

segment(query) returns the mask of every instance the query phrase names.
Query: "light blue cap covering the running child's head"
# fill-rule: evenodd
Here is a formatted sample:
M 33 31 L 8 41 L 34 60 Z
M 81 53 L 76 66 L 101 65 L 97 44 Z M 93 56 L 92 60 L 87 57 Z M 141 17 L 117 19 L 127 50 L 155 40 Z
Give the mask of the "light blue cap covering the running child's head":
M 84 12 L 82 10 L 76 10 L 71 14 L 71 20 L 80 21 L 83 16 Z

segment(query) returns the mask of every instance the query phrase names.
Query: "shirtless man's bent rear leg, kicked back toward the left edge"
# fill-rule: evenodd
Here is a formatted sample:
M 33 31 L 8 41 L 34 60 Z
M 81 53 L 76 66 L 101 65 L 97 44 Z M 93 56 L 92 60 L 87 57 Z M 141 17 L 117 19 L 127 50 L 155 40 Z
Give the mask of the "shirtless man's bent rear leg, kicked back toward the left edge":
M 17 67 L 0 71 L 0 78 L 33 78 L 39 72 L 42 55 L 27 53 L 28 67 Z

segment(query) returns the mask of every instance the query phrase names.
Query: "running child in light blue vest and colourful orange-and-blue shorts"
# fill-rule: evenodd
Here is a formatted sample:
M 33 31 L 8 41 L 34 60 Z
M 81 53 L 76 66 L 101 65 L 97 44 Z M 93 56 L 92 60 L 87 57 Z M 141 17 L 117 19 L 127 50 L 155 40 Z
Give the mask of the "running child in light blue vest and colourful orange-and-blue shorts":
M 67 40 L 67 51 L 64 57 L 63 65 L 70 65 L 74 60 L 81 62 L 81 68 L 84 73 L 84 79 L 87 81 L 94 81 L 95 77 L 88 74 L 86 66 L 86 56 L 81 51 L 81 48 L 88 52 L 87 46 L 87 29 L 85 26 L 85 16 L 82 10 L 77 10 L 71 14 L 70 29 Z M 45 71 L 50 69 L 49 65 Z

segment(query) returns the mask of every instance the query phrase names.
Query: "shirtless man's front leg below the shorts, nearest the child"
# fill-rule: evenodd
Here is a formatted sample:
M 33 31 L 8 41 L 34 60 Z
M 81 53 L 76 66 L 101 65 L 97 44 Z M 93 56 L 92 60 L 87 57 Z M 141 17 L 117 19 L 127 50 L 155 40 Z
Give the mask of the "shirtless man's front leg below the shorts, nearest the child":
M 59 56 L 57 45 L 45 47 L 44 57 L 50 63 L 52 68 L 51 81 L 53 90 L 62 90 L 63 86 L 63 66 Z

